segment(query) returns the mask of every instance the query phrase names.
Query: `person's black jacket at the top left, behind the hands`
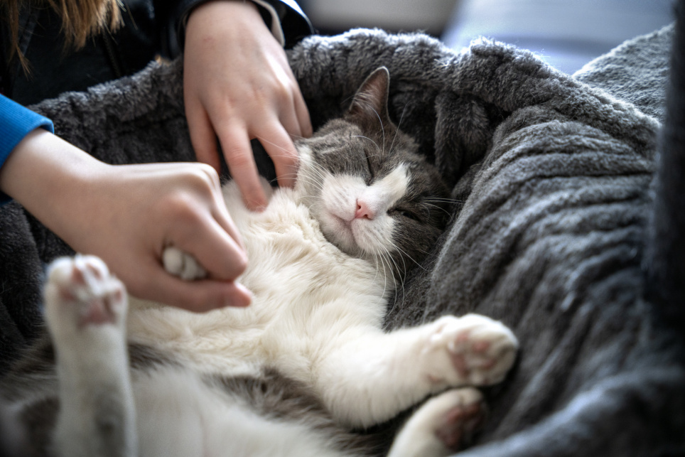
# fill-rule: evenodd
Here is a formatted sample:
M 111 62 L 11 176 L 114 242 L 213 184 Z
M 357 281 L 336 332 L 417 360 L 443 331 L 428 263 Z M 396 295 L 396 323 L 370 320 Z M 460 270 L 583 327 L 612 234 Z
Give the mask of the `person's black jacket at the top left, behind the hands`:
M 291 0 L 264 0 L 279 14 L 286 47 L 312 33 L 311 24 Z M 10 52 L 9 27 L 3 23 L 2 72 L 4 95 L 23 105 L 40 102 L 68 90 L 87 87 L 141 70 L 157 55 L 174 58 L 183 43 L 185 18 L 203 0 L 124 1 L 124 27 L 115 33 L 89 38 L 85 48 L 65 52 L 60 18 L 50 8 L 24 9 L 20 16 L 19 43 L 31 65 L 24 74 L 18 59 L 7 64 Z M 260 7 L 271 21 L 269 13 Z

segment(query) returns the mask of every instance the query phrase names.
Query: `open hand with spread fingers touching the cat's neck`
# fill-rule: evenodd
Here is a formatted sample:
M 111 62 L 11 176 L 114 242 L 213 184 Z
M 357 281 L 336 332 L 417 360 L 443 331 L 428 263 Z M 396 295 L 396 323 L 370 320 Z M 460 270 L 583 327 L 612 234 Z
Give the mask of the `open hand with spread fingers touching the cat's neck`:
M 292 136 L 311 136 L 306 104 L 286 54 L 252 2 L 213 0 L 185 29 L 183 95 L 198 160 L 219 171 L 216 138 L 248 208 L 266 205 L 250 139 L 274 161 L 280 186 L 295 183 Z

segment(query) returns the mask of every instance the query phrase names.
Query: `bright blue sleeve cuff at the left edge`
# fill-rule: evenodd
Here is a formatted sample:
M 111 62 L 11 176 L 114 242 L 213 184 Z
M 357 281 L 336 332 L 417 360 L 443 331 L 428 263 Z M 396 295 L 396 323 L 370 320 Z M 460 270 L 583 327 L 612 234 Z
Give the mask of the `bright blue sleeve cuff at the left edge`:
M 50 119 L 0 95 L 0 168 L 23 137 L 38 127 L 55 133 Z M 8 195 L 0 192 L 0 204 L 9 200 Z

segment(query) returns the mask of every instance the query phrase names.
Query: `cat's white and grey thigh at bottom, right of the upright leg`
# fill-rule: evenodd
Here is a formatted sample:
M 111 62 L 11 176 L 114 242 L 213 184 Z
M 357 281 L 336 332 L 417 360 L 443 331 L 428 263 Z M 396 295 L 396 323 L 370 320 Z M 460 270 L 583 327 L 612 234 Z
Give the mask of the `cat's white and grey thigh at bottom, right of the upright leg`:
M 144 457 L 358 457 L 350 449 L 365 449 L 274 377 L 203 377 L 170 364 L 137 373 L 134 387 Z

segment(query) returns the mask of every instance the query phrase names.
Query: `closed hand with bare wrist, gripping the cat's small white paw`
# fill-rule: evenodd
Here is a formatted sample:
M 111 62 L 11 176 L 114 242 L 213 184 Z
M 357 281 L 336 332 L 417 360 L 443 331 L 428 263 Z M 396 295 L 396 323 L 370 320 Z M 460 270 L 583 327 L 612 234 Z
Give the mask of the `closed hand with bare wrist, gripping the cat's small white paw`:
M 134 296 L 190 311 L 249 304 L 250 292 L 235 281 L 247 256 L 210 166 L 111 166 L 38 129 L 1 171 L 4 192 L 77 252 L 102 258 Z M 193 255 L 209 277 L 168 274 L 168 246 Z

